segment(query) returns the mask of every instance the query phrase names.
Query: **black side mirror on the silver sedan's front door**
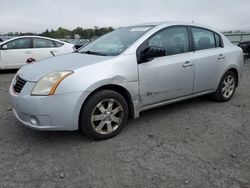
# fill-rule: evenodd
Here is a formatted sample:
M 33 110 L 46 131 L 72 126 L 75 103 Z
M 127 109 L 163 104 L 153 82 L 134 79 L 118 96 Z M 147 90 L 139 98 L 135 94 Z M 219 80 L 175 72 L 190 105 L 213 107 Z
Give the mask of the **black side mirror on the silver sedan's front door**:
M 145 50 L 141 52 L 141 62 L 145 62 L 149 59 L 153 59 L 155 57 L 162 57 L 166 55 L 166 51 L 162 47 L 157 46 L 149 46 Z

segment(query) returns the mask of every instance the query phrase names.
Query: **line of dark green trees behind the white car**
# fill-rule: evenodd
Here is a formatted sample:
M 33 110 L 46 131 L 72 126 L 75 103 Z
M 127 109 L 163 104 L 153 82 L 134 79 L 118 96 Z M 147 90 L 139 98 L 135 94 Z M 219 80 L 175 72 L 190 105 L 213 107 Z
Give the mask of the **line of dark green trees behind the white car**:
M 31 33 L 31 32 L 9 32 L 9 36 L 24 36 L 24 35 L 39 35 L 43 37 L 51 37 L 51 38 L 84 38 L 84 39 L 92 39 L 95 37 L 99 37 L 106 33 L 113 31 L 113 27 L 97 27 L 83 29 L 81 27 L 77 27 L 74 30 L 68 30 L 62 27 L 59 27 L 57 30 L 46 30 L 42 33 Z

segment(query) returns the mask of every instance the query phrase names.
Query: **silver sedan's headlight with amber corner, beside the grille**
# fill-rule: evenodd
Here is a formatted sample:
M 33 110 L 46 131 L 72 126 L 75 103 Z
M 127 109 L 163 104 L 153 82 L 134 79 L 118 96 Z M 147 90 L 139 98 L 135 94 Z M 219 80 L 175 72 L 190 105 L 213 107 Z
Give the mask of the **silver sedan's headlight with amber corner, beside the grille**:
M 31 95 L 54 95 L 57 86 L 73 71 L 53 72 L 42 77 L 33 88 Z

